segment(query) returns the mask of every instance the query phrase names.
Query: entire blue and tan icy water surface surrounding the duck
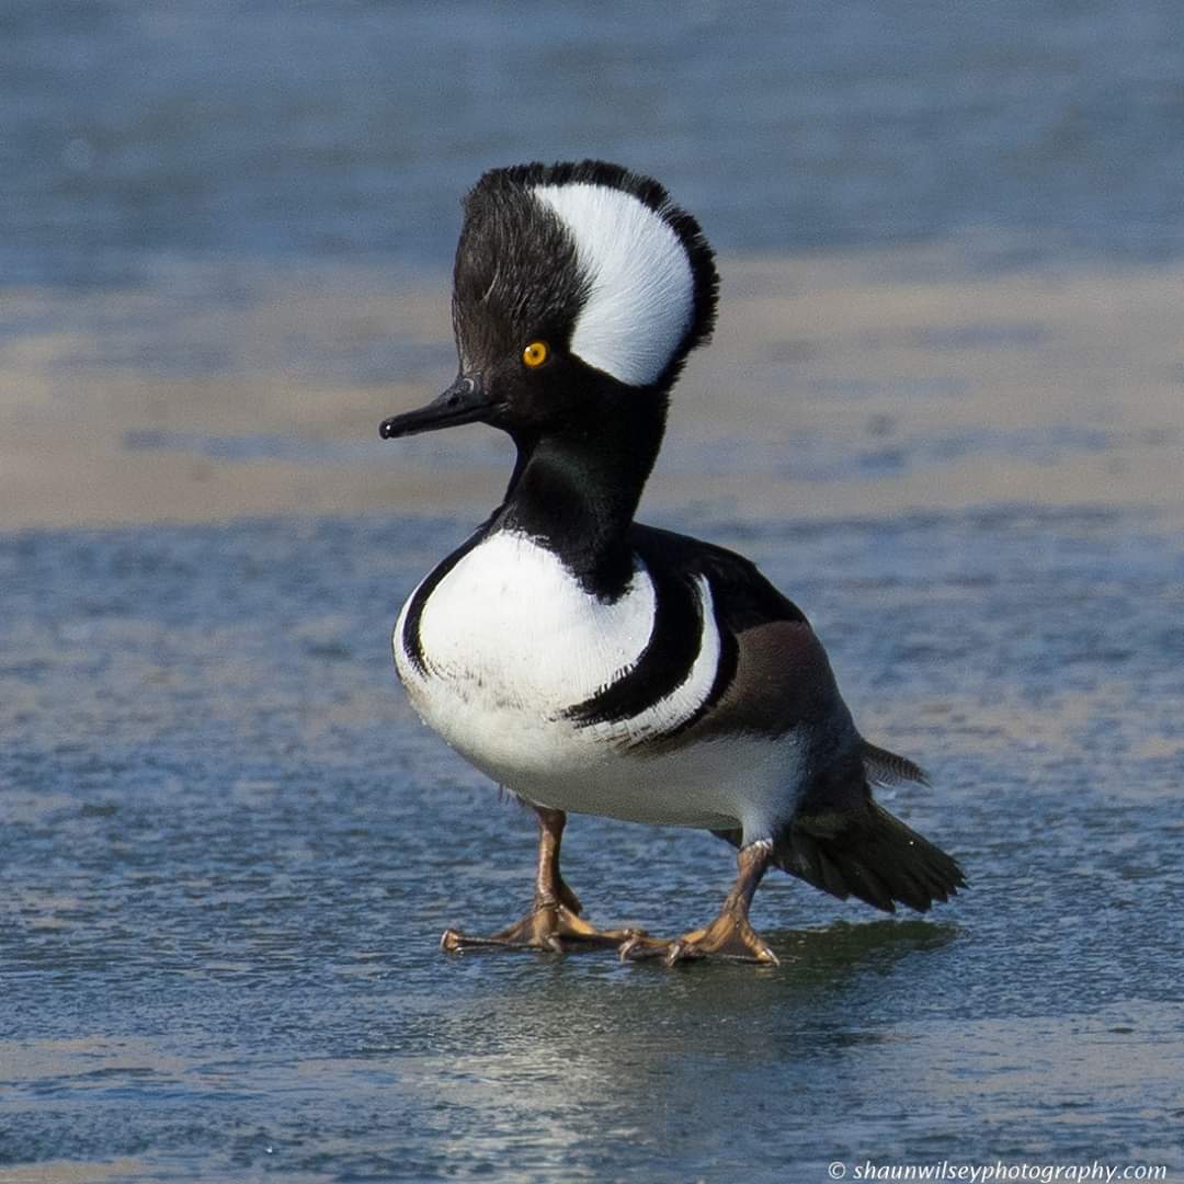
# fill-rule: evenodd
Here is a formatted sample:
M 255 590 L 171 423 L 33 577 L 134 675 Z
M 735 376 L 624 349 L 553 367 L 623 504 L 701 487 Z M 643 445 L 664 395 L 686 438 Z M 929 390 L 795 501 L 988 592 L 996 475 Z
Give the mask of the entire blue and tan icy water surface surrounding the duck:
M 1184 6 L 0 0 L 0 1178 L 1179 1166 Z M 646 519 L 754 558 L 970 892 L 771 879 L 779 970 L 444 959 L 533 828 L 390 630 L 509 471 L 451 380 L 483 169 L 720 252 Z M 710 836 L 573 819 L 600 924 Z

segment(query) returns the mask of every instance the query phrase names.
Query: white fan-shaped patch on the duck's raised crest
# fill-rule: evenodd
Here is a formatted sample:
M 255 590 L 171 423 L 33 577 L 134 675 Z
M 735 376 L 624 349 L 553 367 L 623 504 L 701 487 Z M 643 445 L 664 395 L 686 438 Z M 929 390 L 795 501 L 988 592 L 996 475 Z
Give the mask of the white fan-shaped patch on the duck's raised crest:
M 674 227 L 633 194 L 605 185 L 541 185 L 591 290 L 572 352 L 630 386 L 665 369 L 695 309 L 695 277 Z

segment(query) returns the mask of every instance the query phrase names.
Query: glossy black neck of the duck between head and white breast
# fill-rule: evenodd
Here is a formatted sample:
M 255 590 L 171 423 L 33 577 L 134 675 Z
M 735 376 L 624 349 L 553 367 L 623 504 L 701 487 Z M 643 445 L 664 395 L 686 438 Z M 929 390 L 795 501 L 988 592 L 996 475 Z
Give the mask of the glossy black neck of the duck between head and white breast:
M 631 392 L 562 431 L 515 433 L 517 461 L 491 525 L 538 539 L 590 592 L 616 599 L 632 578 L 626 535 L 664 423 L 664 398 Z

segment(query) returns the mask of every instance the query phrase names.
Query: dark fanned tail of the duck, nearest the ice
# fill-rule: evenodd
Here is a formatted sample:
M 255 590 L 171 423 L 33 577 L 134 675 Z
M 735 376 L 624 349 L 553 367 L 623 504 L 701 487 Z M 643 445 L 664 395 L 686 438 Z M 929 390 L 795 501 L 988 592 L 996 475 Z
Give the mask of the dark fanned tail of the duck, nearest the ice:
M 778 837 L 773 858 L 839 900 L 857 896 L 886 913 L 897 902 L 925 913 L 966 887 L 954 860 L 871 800 L 851 813 L 799 815 Z

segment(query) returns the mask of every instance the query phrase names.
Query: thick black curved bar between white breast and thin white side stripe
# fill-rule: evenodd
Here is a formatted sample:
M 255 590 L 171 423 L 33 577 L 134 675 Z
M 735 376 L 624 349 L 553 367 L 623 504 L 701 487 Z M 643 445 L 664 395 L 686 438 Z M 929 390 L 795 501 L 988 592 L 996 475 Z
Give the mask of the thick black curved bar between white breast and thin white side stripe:
M 693 583 L 669 568 L 657 566 L 649 574 L 654 584 L 654 628 L 645 649 L 616 682 L 564 712 L 573 722 L 586 727 L 631 719 L 690 676 L 704 628 L 699 593 Z

